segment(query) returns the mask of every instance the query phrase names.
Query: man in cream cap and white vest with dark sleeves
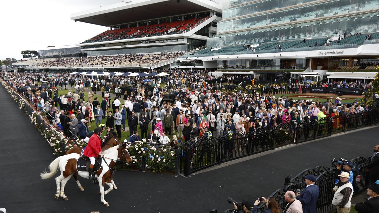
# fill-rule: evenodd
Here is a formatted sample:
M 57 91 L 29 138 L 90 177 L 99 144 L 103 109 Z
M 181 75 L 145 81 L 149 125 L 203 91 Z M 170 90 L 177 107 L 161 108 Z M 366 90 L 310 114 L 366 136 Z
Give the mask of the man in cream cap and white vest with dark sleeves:
M 332 204 L 336 206 L 337 213 L 349 213 L 351 197 L 353 196 L 353 186 L 349 182 L 349 173 L 341 172 L 338 175 L 341 180 L 341 186 L 334 193 Z

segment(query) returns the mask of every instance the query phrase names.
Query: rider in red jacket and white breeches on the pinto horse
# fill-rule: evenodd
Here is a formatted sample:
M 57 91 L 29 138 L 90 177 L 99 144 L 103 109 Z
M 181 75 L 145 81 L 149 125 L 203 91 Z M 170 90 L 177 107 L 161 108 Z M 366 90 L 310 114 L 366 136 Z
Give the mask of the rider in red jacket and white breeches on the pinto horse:
M 89 158 L 89 161 L 91 161 L 91 165 L 89 165 L 89 169 L 88 169 L 88 179 L 96 180 L 95 174 L 93 174 L 93 170 L 95 166 L 95 157 L 97 158 L 99 155 L 103 154 L 100 147 L 101 133 L 102 133 L 102 129 L 97 127 L 94 130 L 94 134 L 91 136 L 91 138 L 89 138 L 86 149 L 83 152 L 83 155 L 87 156 Z

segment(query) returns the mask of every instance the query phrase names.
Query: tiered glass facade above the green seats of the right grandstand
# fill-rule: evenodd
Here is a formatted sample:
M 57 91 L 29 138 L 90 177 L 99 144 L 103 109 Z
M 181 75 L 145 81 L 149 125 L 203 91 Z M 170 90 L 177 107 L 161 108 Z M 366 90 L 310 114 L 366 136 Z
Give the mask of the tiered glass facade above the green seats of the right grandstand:
M 379 30 L 377 0 L 236 0 L 230 5 L 207 47 Z

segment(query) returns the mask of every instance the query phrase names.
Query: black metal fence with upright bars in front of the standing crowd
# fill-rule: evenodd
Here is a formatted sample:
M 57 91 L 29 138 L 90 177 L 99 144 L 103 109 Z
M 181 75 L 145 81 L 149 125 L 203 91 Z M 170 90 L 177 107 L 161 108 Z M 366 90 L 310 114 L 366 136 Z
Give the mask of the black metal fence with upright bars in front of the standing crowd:
M 259 152 L 303 143 L 331 136 L 332 132 L 345 132 L 379 123 L 379 112 L 350 113 L 347 116 L 324 117 L 319 121 L 303 121 L 298 125 L 280 124 L 270 131 L 254 131 L 234 135 L 232 139 L 191 139 L 184 144 L 185 160 L 180 171 L 186 176 L 216 164 Z

